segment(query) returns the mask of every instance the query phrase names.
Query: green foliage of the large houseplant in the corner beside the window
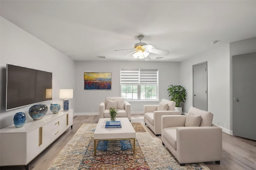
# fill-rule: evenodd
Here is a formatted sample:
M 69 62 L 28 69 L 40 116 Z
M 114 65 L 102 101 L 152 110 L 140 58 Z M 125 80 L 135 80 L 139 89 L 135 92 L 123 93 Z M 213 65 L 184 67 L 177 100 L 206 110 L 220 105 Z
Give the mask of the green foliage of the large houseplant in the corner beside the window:
M 169 97 L 171 96 L 171 101 L 176 102 L 175 107 L 180 107 L 180 102 L 185 102 L 186 100 L 186 89 L 182 86 L 175 86 L 175 85 L 170 85 L 168 86 L 169 88 L 168 93 Z

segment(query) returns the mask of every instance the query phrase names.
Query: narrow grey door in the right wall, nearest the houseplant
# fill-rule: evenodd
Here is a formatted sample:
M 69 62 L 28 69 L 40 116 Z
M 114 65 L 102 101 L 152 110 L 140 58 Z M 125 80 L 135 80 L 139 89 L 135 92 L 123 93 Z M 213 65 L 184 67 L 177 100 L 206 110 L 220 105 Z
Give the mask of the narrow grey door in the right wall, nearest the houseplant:
M 193 65 L 193 107 L 208 110 L 207 61 Z

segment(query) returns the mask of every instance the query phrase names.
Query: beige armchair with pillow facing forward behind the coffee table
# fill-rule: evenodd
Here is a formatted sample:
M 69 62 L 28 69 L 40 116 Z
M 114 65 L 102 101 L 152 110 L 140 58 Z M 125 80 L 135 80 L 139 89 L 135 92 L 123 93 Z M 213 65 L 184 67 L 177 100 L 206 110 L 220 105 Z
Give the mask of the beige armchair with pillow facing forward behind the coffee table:
M 106 97 L 105 102 L 100 103 L 100 118 L 110 117 L 109 108 L 116 108 L 116 117 L 127 117 L 131 121 L 131 105 L 121 97 Z

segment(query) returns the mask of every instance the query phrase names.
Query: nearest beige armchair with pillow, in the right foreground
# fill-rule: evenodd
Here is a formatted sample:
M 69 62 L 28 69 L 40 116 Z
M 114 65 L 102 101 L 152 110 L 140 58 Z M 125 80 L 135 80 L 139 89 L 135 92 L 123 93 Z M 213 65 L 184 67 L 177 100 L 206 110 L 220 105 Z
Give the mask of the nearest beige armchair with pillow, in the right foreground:
M 190 107 L 188 115 L 162 116 L 162 143 L 181 166 L 222 159 L 222 129 L 212 126 L 213 114 Z

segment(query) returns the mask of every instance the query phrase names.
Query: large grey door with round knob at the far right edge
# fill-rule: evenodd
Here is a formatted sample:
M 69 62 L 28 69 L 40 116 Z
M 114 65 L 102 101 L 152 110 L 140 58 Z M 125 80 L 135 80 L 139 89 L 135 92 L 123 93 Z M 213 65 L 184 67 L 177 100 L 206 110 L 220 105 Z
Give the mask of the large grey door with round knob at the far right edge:
M 233 135 L 256 140 L 256 53 L 232 59 Z

